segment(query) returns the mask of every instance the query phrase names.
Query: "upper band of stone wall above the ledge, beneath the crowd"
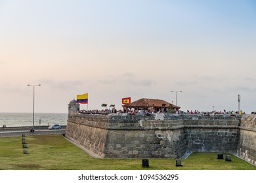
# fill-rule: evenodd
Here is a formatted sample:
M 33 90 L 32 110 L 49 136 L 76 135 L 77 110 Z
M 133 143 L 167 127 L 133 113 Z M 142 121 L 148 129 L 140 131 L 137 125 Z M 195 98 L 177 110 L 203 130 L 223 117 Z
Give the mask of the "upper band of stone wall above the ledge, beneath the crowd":
M 179 129 L 182 127 L 202 128 L 238 128 L 240 118 L 229 115 L 204 116 L 196 114 L 164 114 L 162 120 L 156 120 L 157 114 L 81 114 L 72 113 L 68 121 L 104 129 Z

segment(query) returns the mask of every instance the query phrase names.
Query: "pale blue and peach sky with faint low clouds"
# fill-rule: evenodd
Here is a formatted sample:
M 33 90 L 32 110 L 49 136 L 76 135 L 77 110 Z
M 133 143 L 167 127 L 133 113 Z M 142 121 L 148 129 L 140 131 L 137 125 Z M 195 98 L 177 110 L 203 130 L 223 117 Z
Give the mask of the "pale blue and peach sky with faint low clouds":
M 0 112 L 256 111 L 256 1 L 0 0 Z M 171 91 L 182 91 L 176 93 Z M 214 106 L 214 107 L 213 107 Z

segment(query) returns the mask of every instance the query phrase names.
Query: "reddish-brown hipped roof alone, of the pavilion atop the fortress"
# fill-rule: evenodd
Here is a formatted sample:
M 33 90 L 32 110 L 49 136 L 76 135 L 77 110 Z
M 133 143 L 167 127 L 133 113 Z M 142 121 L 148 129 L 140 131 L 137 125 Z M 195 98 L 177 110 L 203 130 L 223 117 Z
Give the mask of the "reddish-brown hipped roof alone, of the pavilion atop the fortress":
M 161 99 L 146 99 L 142 98 L 137 101 L 134 101 L 132 103 L 123 105 L 123 107 L 129 107 L 129 108 L 169 108 L 172 107 L 173 109 L 179 110 L 179 106 L 173 105 L 171 103 L 168 103 L 167 101 L 163 101 Z

